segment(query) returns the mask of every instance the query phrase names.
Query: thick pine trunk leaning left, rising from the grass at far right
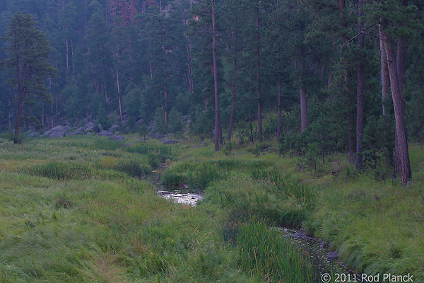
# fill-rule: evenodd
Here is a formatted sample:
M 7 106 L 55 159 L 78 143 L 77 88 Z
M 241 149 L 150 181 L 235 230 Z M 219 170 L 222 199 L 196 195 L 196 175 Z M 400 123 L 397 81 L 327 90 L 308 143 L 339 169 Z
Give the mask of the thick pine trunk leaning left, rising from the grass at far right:
M 396 152 L 400 164 L 401 183 L 406 185 L 411 178 L 411 165 L 409 163 L 408 139 L 406 137 L 406 122 L 404 114 L 404 102 L 401 94 L 399 73 L 396 66 L 396 54 L 394 42 L 382 28 L 382 38 L 384 50 L 386 50 L 387 62 L 389 66 L 389 77 L 391 86 L 391 97 L 393 99 L 394 119 L 396 122 Z

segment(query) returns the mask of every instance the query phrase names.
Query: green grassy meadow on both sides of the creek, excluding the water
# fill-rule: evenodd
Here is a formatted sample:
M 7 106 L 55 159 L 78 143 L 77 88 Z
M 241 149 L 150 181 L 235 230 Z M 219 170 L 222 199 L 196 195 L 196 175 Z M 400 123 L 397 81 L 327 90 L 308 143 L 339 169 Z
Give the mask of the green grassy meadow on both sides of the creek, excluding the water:
M 424 279 L 417 144 L 413 183 L 402 187 L 353 173 L 341 154 L 304 171 L 275 141 L 259 154 L 137 139 L 0 139 L 0 282 L 319 282 L 269 226 L 322 238 L 358 272 Z M 204 200 L 175 204 L 157 183 Z

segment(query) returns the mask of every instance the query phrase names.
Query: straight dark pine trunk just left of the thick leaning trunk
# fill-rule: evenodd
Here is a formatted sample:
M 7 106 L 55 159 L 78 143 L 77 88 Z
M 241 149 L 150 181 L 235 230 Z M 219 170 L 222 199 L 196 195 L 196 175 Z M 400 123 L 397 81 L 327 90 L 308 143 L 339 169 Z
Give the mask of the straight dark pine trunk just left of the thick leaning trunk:
M 359 50 L 364 48 L 364 22 L 361 19 L 363 16 L 363 6 L 365 0 L 359 0 L 359 13 L 358 13 L 358 45 Z M 362 134 L 364 132 L 364 66 L 361 58 L 358 58 L 358 88 L 356 93 L 356 164 L 355 169 L 360 170 L 363 164 L 363 149 L 361 146 Z

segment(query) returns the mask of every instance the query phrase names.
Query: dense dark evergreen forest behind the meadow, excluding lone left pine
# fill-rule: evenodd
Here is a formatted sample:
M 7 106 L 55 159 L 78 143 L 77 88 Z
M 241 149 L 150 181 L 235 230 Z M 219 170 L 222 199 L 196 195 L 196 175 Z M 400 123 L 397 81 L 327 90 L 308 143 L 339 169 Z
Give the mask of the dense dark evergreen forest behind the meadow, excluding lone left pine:
M 218 133 L 216 149 L 224 131 L 240 143 L 277 136 L 282 154 L 324 162 L 347 151 L 357 169 L 394 166 L 406 184 L 406 138 L 424 138 L 423 5 L 2 0 L 0 35 L 13 15 L 30 13 L 58 71 L 45 79 L 52 100 L 23 103 L 25 129 L 90 118 L 178 132 L 191 115 L 194 134 Z M 3 49 L 1 61 L 8 56 Z M 18 91 L 7 70 L 0 76 L 1 127 L 11 130 Z

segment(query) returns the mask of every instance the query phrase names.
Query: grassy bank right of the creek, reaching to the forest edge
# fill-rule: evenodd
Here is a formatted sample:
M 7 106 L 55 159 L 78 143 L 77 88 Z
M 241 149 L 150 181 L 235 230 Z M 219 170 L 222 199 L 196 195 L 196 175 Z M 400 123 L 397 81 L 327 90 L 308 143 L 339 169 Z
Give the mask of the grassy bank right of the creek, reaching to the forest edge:
M 266 146 L 262 146 L 266 147 Z M 276 146 L 274 146 L 276 147 Z M 354 270 L 424 280 L 424 153 L 411 145 L 413 182 L 382 178 L 378 171 L 356 173 L 346 156 L 327 157 L 317 171 L 297 158 L 256 147 L 228 156 L 188 149 L 163 183 L 184 182 L 204 190 L 204 202 L 227 210 L 224 236 L 235 241 L 247 215 L 270 224 L 298 226 L 322 238 Z M 376 173 L 377 172 L 377 173 Z

